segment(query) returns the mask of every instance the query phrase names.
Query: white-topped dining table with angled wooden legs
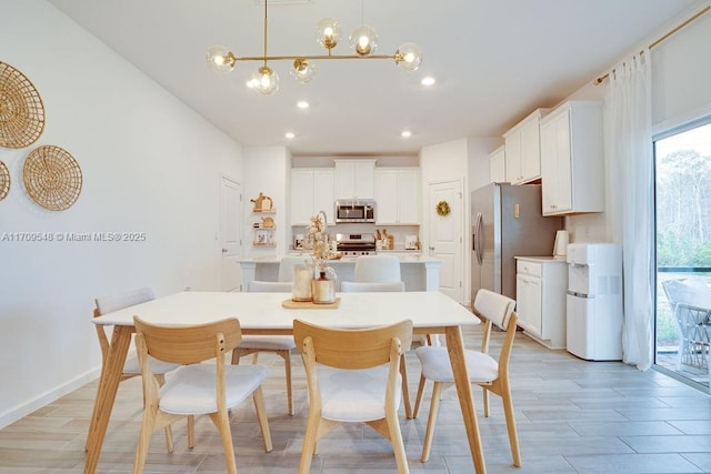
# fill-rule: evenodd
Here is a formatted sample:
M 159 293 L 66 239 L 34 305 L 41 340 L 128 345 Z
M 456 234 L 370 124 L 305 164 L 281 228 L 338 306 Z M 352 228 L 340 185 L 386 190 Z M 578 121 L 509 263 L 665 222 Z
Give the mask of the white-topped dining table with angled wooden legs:
M 294 319 L 340 329 L 411 320 L 415 334 L 444 334 L 474 468 L 477 473 L 484 473 L 461 333 L 461 326 L 479 324 L 480 320 L 440 292 L 338 293 L 337 296 L 337 307 L 288 309 L 283 303 L 291 300 L 290 293 L 181 292 L 92 319 L 94 324 L 114 327 L 89 425 L 84 473 L 94 473 L 99 462 L 131 335 L 136 331 L 134 315 L 149 323 L 166 325 L 237 317 L 243 334 L 292 334 Z

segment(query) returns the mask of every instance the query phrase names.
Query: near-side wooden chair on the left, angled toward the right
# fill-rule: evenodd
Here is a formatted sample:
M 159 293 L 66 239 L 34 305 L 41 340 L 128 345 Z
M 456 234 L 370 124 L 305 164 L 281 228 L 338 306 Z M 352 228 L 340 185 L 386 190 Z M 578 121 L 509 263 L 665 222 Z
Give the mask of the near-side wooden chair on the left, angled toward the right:
M 208 415 L 212 420 L 222 437 L 227 471 L 237 473 L 228 410 L 241 404 L 250 395 L 257 410 L 264 450 L 272 451 L 262 394 L 267 369 L 224 363 L 226 354 L 242 340 L 237 319 L 189 326 L 154 325 L 138 316 L 133 316 L 133 322 L 146 396 L 133 474 L 143 471 L 153 431 L 190 415 Z M 160 391 L 153 380 L 149 356 L 181 365 Z M 210 363 L 201 363 L 204 361 Z

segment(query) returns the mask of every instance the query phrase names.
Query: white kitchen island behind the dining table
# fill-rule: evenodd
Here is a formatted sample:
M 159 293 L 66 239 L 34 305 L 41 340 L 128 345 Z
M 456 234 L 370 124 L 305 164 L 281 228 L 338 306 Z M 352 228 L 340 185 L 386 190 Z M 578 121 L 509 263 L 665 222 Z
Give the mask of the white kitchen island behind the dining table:
M 405 291 L 439 291 L 440 290 L 440 268 L 442 261 L 420 254 L 400 253 L 400 275 L 404 282 Z M 309 255 L 303 254 L 304 261 L 309 261 Z M 353 281 L 357 256 L 343 256 L 339 260 L 331 260 L 329 263 L 336 271 L 336 291 L 341 290 L 341 282 Z M 247 291 L 250 281 L 272 281 L 276 282 L 279 275 L 280 256 L 264 256 L 257 259 L 239 260 L 242 269 L 241 291 Z

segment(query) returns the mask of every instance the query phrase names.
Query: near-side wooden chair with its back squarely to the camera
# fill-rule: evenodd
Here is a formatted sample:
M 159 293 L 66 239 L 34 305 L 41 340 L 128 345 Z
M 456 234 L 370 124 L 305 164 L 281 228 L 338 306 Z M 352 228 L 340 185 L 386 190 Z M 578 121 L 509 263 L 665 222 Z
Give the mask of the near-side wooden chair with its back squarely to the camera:
M 367 423 L 392 443 L 398 472 L 409 473 L 398 407 L 400 361 L 412 322 L 362 330 L 322 327 L 294 320 L 309 389 L 309 420 L 299 473 L 308 474 L 317 444 L 340 423 Z

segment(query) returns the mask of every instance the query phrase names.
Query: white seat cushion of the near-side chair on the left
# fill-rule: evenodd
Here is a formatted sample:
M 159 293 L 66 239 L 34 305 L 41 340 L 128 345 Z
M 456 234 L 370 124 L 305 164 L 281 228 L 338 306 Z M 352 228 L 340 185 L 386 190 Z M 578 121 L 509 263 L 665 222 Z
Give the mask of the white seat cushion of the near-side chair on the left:
M 160 410 L 177 415 L 201 415 L 218 411 L 213 363 L 180 367 L 160 389 Z M 228 409 L 239 405 L 267 379 L 262 365 L 226 365 L 224 393 Z

